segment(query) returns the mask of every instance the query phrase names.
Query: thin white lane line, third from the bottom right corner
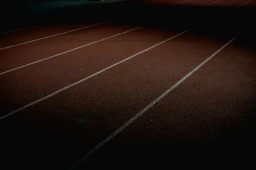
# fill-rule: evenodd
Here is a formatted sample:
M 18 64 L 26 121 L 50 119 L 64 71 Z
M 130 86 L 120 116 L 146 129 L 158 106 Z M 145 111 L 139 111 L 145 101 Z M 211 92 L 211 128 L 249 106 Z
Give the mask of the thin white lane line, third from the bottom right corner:
M 85 44 L 85 45 L 82 45 L 82 46 L 80 46 L 80 47 L 76 47 L 76 48 L 73 48 L 73 49 L 71 49 L 71 50 L 64 51 L 64 52 L 62 52 L 62 53 L 59 53 L 59 54 L 56 54 L 56 55 L 53 55 L 53 56 L 50 56 L 50 57 L 47 57 L 47 58 L 37 60 L 37 61 L 35 61 L 35 62 L 30 62 L 29 64 L 22 65 L 22 66 L 20 66 L 20 67 L 16 67 L 16 68 L 13 68 L 13 69 L 8 70 L 8 71 L 4 71 L 4 72 L 0 73 L 0 75 L 9 73 L 9 72 L 11 72 L 11 71 L 15 71 L 15 70 L 20 69 L 20 68 L 23 68 L 23 67 L 27 67 L 27 66 L 29 66 L 29 65 L 32 65 L 32 64 L 35 64 L 35 63 L 38 63 L 38 62 L 41 62 L 41 61 L 44 61 L 44 60 L 47 60 L 47 59 L 51 59 L 51 58 L 53 58 L 53 57 L 60 56 L 60 55 L 62 55 L 62 54 L 69 53 L 69 52 L 71 52 L 71 51 L 78 50 L 78 49 L 80 49 L 80 48 L 86 47 L 86 46 L 88 46 L 88 45 L 95 44 L 95 43 L 97 43 L 97 42 L 101 42 L 101 41 L 108 40 L 108 39 L 110 39 L 110 38 L 113 38 L 113 37 L 116 37 L 116 36 L 119 36 L 119 35 L 122 35 L 122 34 L 126 34 L 126 33 L 130 32 L 130 31 L 134 31 L 134 30 L 136 30 L 136 29 L 139 29 L 139 28 L 142 28 L 142 27 L 145 27 L 145 26 L 149 26 L 149 25 L 150 25 L 150 24 L 147 24 L 147 25 L 144 25 L 144 26 L 140 26 L 140 27 L 137 27 L 137 28 L 133 28 L 133 29 L 130 29 L 130 30 L 128 30 L 128 31 L 121 32 L 121 33 L 119 33 L 119 34 L 115 34 L 115 35 L 113 35 L 113 36 L 111 36 L 111 37 L 107 37 L 107 38 L 103 38 L 103 39 L 101 39 L 101 40 L 97 40 L 97 41 L 94 41 L 94 42 L 90 42 L 90 43 Z

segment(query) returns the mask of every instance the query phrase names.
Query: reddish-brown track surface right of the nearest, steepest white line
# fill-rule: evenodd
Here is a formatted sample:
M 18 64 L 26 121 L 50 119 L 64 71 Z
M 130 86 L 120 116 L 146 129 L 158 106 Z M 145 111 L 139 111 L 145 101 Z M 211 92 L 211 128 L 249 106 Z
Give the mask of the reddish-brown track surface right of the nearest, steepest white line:
M 79 169 L 111 160 L 144 164 L 246 158 L 251 162 L 256 141 L 256 51 L 239 41 L 224 48 Z

